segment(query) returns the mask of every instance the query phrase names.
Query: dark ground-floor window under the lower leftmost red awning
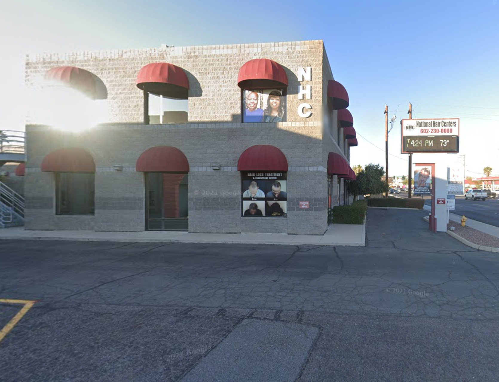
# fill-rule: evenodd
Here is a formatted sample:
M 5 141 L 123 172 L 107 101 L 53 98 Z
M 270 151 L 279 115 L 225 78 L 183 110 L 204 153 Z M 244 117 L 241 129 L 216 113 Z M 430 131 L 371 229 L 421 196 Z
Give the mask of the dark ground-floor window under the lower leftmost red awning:
M 94 214 L 94 174 L 57 173 L 55 188 L 57 215 Z

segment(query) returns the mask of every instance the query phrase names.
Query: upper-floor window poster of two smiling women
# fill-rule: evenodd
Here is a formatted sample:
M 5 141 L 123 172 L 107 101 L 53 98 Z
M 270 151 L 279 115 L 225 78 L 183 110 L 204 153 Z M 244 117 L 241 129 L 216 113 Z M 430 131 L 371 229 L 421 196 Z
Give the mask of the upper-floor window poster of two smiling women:
M 285 89 L 243 90 L 243 122 L 285 122 Z

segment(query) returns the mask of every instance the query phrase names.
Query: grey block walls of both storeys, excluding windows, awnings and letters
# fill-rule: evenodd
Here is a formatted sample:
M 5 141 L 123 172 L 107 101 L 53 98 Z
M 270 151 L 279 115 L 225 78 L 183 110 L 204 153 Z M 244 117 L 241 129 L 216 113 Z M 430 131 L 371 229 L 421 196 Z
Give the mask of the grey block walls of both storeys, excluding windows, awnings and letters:
M 286 122 L 241 123 L 237 77 L 241 66 L 253 58 L 272 59 L 286 71 Z M 151 62 L 169 62 L 187 73 L 188 123 L 143 123 L 143 92 L 135 83 L 138 71 Z M 348 159 L 348 153 L 343 153 L 342 136 L 338 143 L 337 112 L 328 109 L 327 81 L 333 76 L 322 40 L 28 56 L 27 86 L 39 88 L 44 72 L 62 65 L 87 69 L 103 81 L 109 118 L 107 123 L 79 133 L 30 120 L 24 177 L 26 229 L 143 231 L 145 182 L 135 165 L 137 158 L 154 146 L 174 146 L 189 161 L 190 232 L 322 234 L 327 229 L 327 156 L 337 152 Z M 307 66 L 312 68 L 312 80 L 299 82 L 298 69 Z M 298 99 L 300 84 L 311 85 L 311 99 Z M 308 118 L 298 116 L 302 102 L 312 106 Z M 276 146 L 287 158 L 286 218 L 241 216 L 238 159 L 257 144 Z M 54 174 L 41 172 L 40 164 L 45 155 L 60 147 L 82 147 L 94 158 L 93 216 L 55 215 Z M 219 164 L 221 170 L 213 170 L 212 164 Z M 121 165 L 123 171 L 113 170 L 115 165 Z M 343 181 L 333 192 L 333 205 L 338 199 L 343 203 Z M 299 201 L 309 201 L 310 208 L 299 209 Z

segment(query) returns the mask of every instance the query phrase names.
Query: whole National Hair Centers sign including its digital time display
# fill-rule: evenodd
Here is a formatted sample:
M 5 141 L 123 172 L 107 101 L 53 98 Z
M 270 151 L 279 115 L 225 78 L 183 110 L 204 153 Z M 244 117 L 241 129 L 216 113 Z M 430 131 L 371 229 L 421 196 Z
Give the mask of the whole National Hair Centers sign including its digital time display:
M 459 118 L 402 119 L 401 153 L 459 152 Z

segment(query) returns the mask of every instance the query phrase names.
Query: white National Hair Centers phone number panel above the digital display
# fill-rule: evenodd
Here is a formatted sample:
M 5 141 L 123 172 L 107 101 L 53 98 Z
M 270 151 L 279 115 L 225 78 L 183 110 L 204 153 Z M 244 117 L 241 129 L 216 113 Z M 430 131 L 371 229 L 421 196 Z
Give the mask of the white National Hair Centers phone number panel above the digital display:
M 403 136 L 459 136 L 459 118 L 402 119 Z

